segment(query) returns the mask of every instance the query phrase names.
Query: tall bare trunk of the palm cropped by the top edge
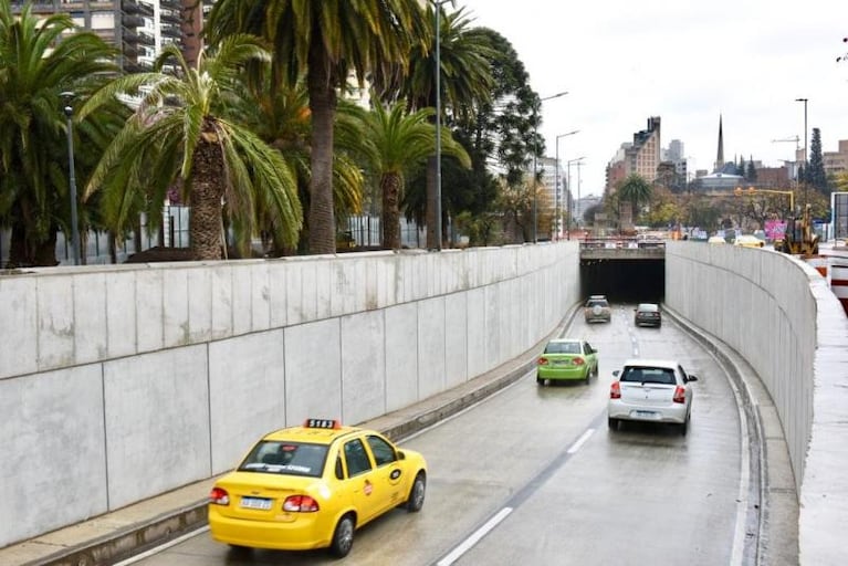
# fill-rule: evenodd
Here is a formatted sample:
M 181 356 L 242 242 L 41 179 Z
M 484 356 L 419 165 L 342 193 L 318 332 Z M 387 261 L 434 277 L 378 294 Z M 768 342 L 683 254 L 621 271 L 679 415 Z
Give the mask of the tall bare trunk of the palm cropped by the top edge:
M 320 42 L 310 51 L 307 85 L 312 111 L 312 178 L 310 179 L 310 253 L 336 252 L 333 210 L 333 118 L 336 91 Z

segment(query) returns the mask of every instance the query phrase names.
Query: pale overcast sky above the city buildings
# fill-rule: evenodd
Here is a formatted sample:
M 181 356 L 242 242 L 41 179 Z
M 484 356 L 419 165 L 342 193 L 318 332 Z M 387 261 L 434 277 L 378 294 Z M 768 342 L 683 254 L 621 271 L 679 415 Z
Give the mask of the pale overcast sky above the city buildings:
M 506 38 L 541 96 L 546 155 L 586 156 L 582 195 L 600 195 L 605 168 L 649 116 L 661 142 L 684 144 L 690 171 L 712 171 L 719 115 L 724 158 L 779 166 L 821 130 L 823 150 L 848 139 L 848 0 L 457 0 L 473 25 Z M 577 193 L 572 166 L 572 192 Z

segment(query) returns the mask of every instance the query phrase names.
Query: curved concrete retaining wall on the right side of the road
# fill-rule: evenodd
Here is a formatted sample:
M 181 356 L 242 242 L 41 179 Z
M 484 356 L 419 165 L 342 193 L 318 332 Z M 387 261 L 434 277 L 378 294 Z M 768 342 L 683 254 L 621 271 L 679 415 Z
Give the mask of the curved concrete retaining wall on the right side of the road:
M 782 253 L 669 242 L 666 303 L 721 336 L 760 375 L 795 473 L 799 563 L 844 563 L 848 319 L 827 282 Z

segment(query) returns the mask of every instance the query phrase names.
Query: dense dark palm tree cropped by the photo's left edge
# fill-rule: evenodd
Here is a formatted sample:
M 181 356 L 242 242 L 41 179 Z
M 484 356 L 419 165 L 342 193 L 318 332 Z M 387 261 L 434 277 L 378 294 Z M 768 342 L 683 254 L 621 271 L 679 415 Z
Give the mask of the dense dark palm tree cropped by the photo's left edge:
M 71 233 L 61 95 L 84 97 L 116 72 L 113 55 L 94 33 L 76 32 L 69 14 L 36 17 L 30 4 L 14 14 L 0 1 L 0 226 L 11 228 L 12 265 L 56 264 L 56 232 Z M 91 147 L 80 143 L 84 128 L 74 135 L 75 147 Z

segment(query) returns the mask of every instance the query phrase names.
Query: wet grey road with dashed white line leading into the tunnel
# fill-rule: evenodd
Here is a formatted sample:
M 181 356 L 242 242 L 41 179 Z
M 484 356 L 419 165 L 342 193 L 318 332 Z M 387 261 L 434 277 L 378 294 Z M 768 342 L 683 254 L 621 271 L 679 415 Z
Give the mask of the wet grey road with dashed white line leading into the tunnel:
M 599 377 L 540 387 L 528 374 L 405 440 L 428 460 L 423 511 L 395 510 L 358 531 L 346 566 L 743 563 L 747 440 L 722 368 L 671 321 L 635 328 L 632 305 L 614 305 L 610 324 L 578 316 L 566 334 L 599 350 Z M 685 437 L 666 426 L 608 430 L 611 371 L 629 357 L 676 358 L 698 375 Z M 331 563 L 324 552 L 232 552 L 208 532 L 135 562 Z

